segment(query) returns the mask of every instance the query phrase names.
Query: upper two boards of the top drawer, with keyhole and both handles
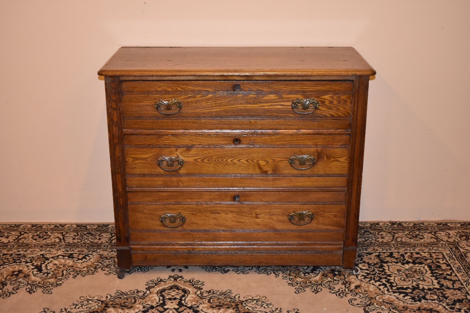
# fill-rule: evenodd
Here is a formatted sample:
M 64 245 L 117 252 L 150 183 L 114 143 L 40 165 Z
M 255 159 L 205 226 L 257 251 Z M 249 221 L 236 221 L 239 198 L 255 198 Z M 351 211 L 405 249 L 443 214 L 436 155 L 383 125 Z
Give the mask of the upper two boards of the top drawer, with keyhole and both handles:
M 122 103 L 124 117 L 349 117 L 351 90 L 348 81 L 130 81 Z

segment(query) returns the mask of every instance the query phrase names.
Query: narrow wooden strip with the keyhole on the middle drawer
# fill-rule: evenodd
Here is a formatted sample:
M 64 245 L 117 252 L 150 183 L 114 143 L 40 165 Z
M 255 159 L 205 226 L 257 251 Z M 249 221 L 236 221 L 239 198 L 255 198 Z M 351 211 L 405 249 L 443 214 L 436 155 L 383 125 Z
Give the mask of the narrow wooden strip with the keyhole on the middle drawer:
M 282 133 L 206 133 L 206 134 L 165 134 L 125 135 L 124 144 L 160 146 L 347 146 L 349 135 L 313 135 Z

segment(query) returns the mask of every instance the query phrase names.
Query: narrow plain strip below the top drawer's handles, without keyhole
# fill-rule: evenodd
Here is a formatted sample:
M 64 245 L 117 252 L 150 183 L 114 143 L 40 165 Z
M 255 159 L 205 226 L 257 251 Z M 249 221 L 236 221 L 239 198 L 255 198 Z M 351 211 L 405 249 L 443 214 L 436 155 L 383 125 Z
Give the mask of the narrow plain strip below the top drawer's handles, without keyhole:
M 349 132 L 351 119 L 349 117 L 329 118 L 125 118 L 123 121 L 125 132 L 131 131 L 162 131 L 173 130 L 175 133 L 184 131 L 258 131 L 258 130 L 289 130 L 296 133 L 302 130 L 312 132 L 342 131 Z

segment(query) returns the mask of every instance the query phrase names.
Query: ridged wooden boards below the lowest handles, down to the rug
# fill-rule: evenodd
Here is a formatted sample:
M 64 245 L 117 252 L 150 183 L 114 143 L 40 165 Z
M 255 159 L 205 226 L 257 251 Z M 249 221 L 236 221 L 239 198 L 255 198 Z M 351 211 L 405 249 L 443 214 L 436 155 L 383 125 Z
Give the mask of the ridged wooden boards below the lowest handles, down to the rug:
M 133 265 L 340 266 L 344 232 L 131 230 Z

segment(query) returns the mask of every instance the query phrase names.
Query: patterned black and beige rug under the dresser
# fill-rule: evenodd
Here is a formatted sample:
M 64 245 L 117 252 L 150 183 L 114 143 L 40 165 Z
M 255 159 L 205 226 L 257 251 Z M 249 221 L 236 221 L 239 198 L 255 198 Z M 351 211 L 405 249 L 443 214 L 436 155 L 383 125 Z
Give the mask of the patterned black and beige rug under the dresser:
M 114 226 L 0 224 L 0 312 L 470 312 L 469 222 L 362 222 L 339 267 L 134 267 Z

